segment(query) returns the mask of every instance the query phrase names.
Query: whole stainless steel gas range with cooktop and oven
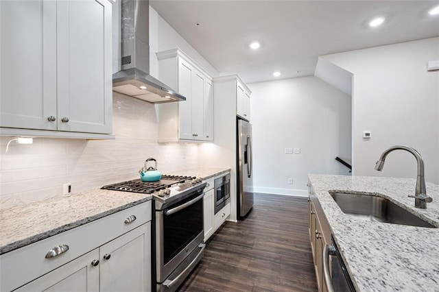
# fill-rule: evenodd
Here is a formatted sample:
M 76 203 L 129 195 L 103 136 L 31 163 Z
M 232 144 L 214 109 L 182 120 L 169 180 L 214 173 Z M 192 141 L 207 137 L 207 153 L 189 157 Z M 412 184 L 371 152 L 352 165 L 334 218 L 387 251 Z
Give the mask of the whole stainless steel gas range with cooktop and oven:
M 102 188 L 152 194 L 155 208 L 156 291 L 176 291 L 204 254 L 201 178 L 163 175 L 158 182 L 130 180 Z

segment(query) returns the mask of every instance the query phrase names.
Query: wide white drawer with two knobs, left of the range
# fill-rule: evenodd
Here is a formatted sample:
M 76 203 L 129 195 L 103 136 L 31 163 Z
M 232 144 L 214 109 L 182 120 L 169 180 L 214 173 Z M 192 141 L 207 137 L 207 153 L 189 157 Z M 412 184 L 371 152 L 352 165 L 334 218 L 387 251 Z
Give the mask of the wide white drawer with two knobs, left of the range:
M 0 291 L 10 291 L 151 220 L 151 201 L 127 208 L 0 256 Z M 134 216 L 134 217 L 132 217 Z M 128 219 L 128 220 L 126 220 Z M 130 222 L 128 222 L 130 221 Z M 60 245 L 68 250 L 51 258 Z

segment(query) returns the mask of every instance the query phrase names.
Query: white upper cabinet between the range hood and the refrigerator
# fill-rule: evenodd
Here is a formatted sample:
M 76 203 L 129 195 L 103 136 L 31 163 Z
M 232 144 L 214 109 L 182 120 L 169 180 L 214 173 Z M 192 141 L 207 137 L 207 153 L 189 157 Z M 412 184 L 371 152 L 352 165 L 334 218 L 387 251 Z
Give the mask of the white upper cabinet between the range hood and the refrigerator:
M 180 49 L 157 57 L 159 79 L 186 97 L 158 105 L 158 142 L 213 141 L 212 77 Z

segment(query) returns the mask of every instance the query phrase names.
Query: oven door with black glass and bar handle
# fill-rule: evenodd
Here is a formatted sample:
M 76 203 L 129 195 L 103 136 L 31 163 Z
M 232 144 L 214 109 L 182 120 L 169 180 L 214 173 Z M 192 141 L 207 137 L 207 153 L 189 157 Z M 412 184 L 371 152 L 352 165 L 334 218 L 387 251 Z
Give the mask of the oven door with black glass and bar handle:
M 204 250 L 204 246 L 200 246 L 204 236 L 203 196 L 200 190 L 175 205 L 156 211 L 157 283 L 167 280 L 197 247 L 200 251 L 195 257 L 200 258 Z M 186 270 L 185 267 L 178 269 Z

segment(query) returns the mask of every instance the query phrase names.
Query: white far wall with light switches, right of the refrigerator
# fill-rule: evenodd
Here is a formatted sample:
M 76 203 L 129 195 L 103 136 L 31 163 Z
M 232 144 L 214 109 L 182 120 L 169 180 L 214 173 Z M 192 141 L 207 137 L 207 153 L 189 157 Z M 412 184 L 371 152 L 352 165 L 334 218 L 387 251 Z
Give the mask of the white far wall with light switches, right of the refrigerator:
M 248 87 L 254 191 L 307 195 L 308 173 L 349 174 L 335 157 L 351 157 L 351 97 L 313 76 Z

